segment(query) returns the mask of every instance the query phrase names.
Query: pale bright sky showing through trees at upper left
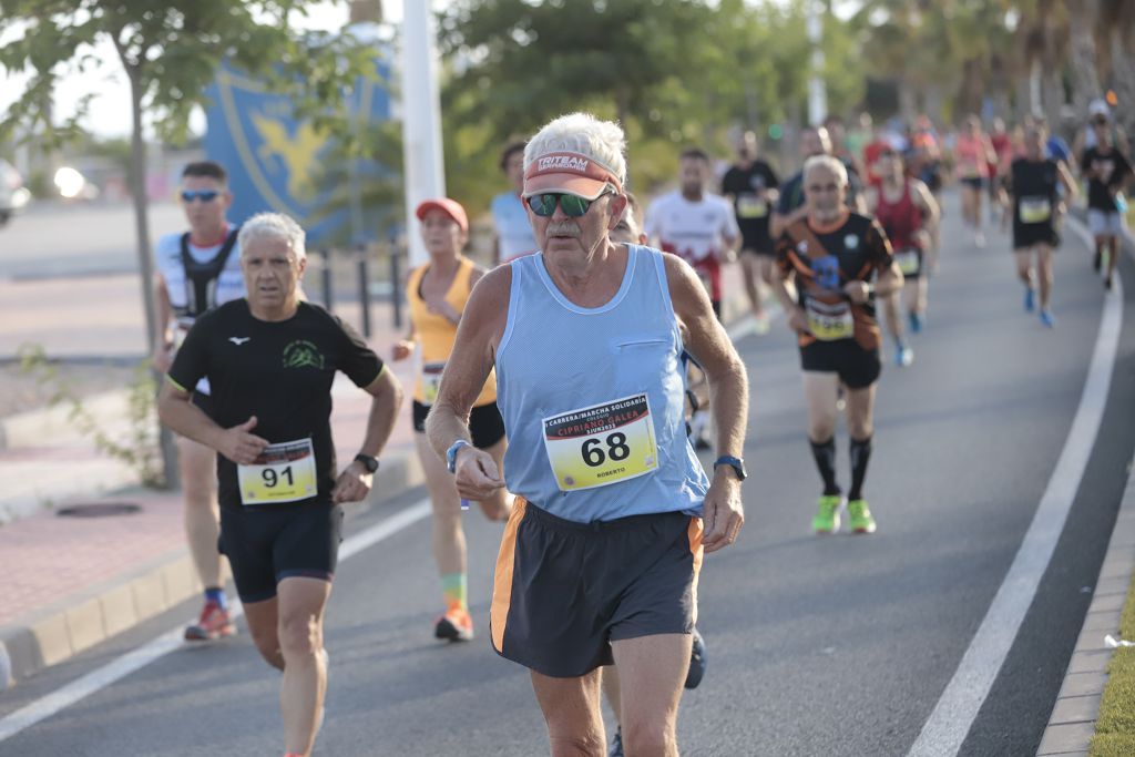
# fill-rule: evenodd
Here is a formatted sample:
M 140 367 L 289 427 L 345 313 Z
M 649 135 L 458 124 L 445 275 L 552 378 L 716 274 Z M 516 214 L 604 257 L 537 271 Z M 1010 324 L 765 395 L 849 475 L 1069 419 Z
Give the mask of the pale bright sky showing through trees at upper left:
M 436 8 L 442 8 L 448 0 L 432 0 Z M 384 18 L 392 23 L 402 20 L 403 0 L 382 0 Z M 326 0 L 312 7 L 304 27 L 316 31 L 342 28 L 347 22 L 347 3 L 345 0 Z M 64 77 L 56 93 L 56 109 L 59 119 L 75 112 L 79 99 L 95 93 L 89 116 L 82 125 L 98 137 L 124 137 L 131 133 L 131 95 L 126 75 L 118 64 L 118 56 L 110 42 L 103 42 L 94 49 L 94 54 L 107 65 L 101 70 L 87 74 L 74 74 Z M 2 69 L 0 69 L 2 74 Z M 23 91 L 23 77 L 0 76 L 0 111 L 7 110 L 16 93 Z M 204 113 L 197 112 L 191 118 L 190 128 L 201 134 L 204 132 Z

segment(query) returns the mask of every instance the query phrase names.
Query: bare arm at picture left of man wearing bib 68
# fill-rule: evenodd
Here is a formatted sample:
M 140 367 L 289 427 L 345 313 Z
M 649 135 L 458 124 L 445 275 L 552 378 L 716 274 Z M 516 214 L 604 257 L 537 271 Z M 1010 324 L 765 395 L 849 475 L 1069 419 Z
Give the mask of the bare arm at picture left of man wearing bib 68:
M 502 266 L 486 274 L 469 295 L 437 402 L 426 419 L 427 438 L 443 460 L 457 439 L 472 441 L 469 411 L 493 370 L 508 318 L 511 288 L 512 268 Z M 463 447 L 457 455 L 456 483 L 466 499 L 485 499 L 504 486 L 493 457 L 472 446 Z

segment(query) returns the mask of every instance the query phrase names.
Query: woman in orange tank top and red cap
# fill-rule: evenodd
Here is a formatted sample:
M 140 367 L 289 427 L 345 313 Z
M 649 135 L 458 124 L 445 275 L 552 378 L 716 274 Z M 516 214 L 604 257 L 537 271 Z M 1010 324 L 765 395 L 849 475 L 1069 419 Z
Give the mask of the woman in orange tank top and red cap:
M 446 611 L 437 620 L 434 634 L 451 641 L 473 638 L 469 616 L 465 533 L 461 528 L 462 502 L 445 463 L 426 440 L 426 417 L 437 399 L 445 363 L 453 351 L 457 323 L 473 285 L 485 269 L 461 254 L 469 242 L 469 220 L 460 203 L 443 197 L 418 205 L 422 239 L 430 260 L 410 271 L 406 296 L 410 301 L 410 334 L 394 345 L 394 360 L 405 360 L 420 348 L 421 365 L 414 384 L 414 445 L 426 472 L 426 487 L 434 503 L 432 548 Z M 504 421 L 496 406 L 496 376 L 489 373 L 485 388 L 469 418 L 473 445 L 504 464 Z M 510 504 L 504 489 L 480 503 L 490 520 L 508 519 Z

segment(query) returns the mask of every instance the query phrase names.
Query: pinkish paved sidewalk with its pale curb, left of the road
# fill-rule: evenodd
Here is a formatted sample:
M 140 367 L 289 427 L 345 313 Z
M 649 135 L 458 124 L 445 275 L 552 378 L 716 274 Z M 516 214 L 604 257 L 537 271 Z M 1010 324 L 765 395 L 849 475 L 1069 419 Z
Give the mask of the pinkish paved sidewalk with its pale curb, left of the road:
M 735 320 L 747 312 L 738 266 L 726 268 L 725 283 L 725 316 Z M 361 322 L 358 303 L 344 303 L 335 312 L 356 327 Z M 44 344 L 47 352 L 90 354 L 92 346 L 101 346 L 107 354 L 141 355 L 141 327 L 120 330 L 118 318 L 115 308 L 108 306 L 106 322 L 98 314 L 74 321 L 81 326 L 56 333 Z M 373 305 L 371 322 L 369 342 L 386 359 L 405 329 L 394 328 L 389 303 Z M 110 336 L 100 340 L 103 326 Z M 9 328 L 3 335 L 9 344 L 22 338 L 17 331 Z M 36 334 L 41 335 L 48 336 Z M 393 494 L 423 482 L 410 422 L 413 362 L 390 368 L 406 390 L 406 401 L 381 456 L 371 496 L 362 506 L 381 506 Z M 334 398 L 333 431 L 339 460 L 350 460 L 363 437 L 370 397 L 339 376 Z M 121 393 L 92 402 L 110 424 L 119 422 L 120 403 Z M 6 572 L 0 595 L 2 690 L 196 596 L 201 586 L 185 547 L 179 493 L 137 487 L 128 468 L 70 434 L 58 412 L 54 418 L 51 412 L 37 412 L 2 419 L 0 431 L 5 432 L 0 438 L 7 439 L 0 443 L 0 480 L 19 482 L 0 494 L 0 554 Z M 54 514 L 76 498 L 91 504 L 132 503 L 141 512 L 106 518 Z

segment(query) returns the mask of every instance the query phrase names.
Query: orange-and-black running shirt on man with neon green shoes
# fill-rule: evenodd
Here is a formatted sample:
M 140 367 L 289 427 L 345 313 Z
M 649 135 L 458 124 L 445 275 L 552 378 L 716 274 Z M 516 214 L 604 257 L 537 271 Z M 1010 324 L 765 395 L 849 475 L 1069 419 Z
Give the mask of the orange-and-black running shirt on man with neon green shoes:
M 785 276 L 796 271 L 800 306 L 808 310 L 809 300 L 825 309 L 847 305 L 854 321 L 854 338 L 865 350 L 875 350 L 880 344 L 874 295 L 857 305 L 848 302 L 843 286 L 849 281 L 871 281 L 893 261 L 891 243 L 878 221 L 850 211 L 826 227 L 801 219 L 784 229 L 776 241 L 776 264 Z M 816 340 L 813 334 L 800 334 L 801 347 Z

